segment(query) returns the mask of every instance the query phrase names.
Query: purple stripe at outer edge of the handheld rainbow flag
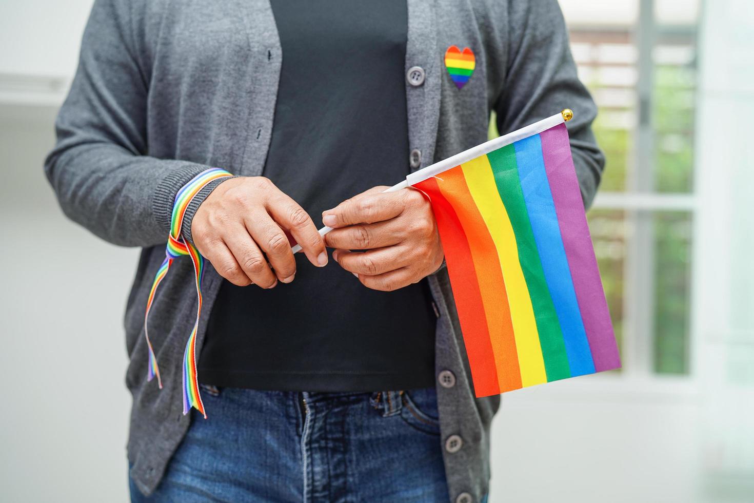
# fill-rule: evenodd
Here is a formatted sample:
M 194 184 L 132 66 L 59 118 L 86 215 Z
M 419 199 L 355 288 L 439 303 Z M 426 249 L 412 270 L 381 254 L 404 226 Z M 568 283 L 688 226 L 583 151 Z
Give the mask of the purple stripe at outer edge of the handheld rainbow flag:
M 610 311 L 602 290 L 602 280 L 599 278 L 566 124 L 550 127 L 539 133 L 539 136 L 544 167 L 550 181 L 563 247 L 571 269 L 594 368 L 597 372 L 617 369 L 621 367 L 621 357 L 618 355 Z

